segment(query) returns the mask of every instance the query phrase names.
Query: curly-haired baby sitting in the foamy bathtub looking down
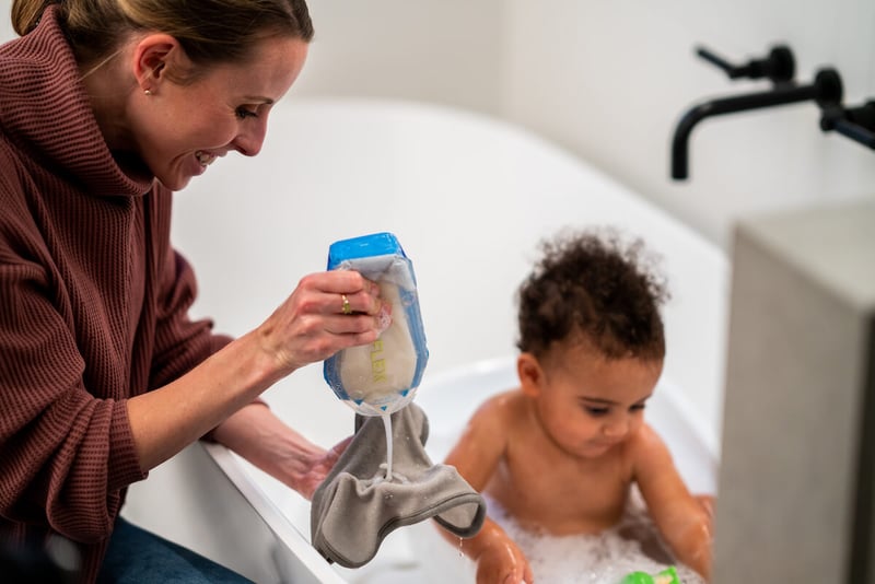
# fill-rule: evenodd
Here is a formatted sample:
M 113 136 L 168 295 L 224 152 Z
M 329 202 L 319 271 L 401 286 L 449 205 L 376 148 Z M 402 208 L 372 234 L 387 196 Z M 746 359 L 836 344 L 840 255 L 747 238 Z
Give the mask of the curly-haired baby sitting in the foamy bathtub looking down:
M 520 387 L 479 407 L 446 464 L 521 525 L 551 535 L 614 526 L 637 483 L 675 559 L 708 579 L 711 498 L 690 494 L 644 421 L 665 357 L 666 291 L 640 265 L 641 243 L 623 246 L 612 232 L 542 248 L 518 291 Z M 462 549 L 478 584 L 533 582 L 491 518 Z

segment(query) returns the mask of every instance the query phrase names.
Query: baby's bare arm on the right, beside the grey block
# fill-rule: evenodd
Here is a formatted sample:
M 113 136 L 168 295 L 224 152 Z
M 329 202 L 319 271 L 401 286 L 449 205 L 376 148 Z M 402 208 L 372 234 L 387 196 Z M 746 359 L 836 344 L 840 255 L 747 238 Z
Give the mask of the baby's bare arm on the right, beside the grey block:
M 711 513 L 690 494 L 668 447 L 648 424 L 633 439 L 634 478 L 678 561 L 711 577 Z

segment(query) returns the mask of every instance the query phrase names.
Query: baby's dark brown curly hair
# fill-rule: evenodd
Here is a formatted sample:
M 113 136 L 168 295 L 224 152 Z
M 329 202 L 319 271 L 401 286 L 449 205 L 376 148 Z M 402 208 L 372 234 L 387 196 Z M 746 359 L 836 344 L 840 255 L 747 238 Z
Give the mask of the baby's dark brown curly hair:
M 540 244 L 542 257 L 517 292 L 523 352 L 542 358 L 555 342 L 590 340 L 607 359 L 662 360 L 662 277 L 644 244 L 623 244 L 611 229 L 560 233 Z

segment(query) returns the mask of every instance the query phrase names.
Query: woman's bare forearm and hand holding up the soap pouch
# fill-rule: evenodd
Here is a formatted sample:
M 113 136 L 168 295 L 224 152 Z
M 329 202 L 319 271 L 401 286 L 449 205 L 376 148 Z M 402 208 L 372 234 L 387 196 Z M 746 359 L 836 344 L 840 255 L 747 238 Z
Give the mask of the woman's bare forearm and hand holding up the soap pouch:
M 351 270 L 304 277 L 255 330 L 185 375 L 128 400 L 142 470 L 207 434 L 296 369 L 373 342 L 387 326 L 378 287 Z M 354 311 L 341 314 L 345 293 Z

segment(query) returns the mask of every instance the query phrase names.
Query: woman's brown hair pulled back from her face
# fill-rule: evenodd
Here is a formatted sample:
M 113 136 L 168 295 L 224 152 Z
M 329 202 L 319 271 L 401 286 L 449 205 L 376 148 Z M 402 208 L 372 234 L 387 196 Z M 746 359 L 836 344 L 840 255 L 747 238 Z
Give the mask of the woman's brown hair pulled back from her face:
M 108 57 L 137 31 L 173 36 L 199 66 L 243 61 L 270 36 L 313 38 L 305 0 L 13 0 L 15 32 L 36 27 L 49 4 L 80 63 Z

